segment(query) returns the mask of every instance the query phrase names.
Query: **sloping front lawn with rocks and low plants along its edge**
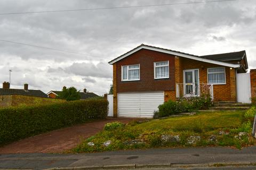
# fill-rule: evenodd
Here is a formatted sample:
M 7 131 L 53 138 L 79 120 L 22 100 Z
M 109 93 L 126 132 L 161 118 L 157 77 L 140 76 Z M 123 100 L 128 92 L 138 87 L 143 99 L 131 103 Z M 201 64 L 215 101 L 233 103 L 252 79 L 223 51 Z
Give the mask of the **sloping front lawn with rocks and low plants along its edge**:
M 105 130 L 84 140 L 73 152 L 95 152 L 154 147 L 253 145 L 251 124 L 244 111 L 201 112 L 148 122 L 108 124 Z M 245 132 L 245 133 L 241 133 Z

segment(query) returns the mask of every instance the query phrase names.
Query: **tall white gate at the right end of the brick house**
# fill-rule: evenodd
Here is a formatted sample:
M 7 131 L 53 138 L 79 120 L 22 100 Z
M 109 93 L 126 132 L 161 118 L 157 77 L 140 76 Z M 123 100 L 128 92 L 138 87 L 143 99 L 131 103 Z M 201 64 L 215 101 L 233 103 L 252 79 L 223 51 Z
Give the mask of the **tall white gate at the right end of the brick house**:
M 237 102 L 251 103 L 251 78 L 250 73 L 236 74 Z

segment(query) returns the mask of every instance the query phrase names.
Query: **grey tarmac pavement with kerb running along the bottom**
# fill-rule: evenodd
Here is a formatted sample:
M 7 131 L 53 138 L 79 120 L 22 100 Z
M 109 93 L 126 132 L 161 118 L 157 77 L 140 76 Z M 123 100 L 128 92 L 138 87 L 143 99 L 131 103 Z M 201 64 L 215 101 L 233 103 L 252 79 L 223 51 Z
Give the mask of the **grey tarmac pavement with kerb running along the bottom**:
M 0 169 L 256 169 L 256 146 L 123 150 L 92 154 L 2 154 Z M 61 168 L 60 168 L 61 169 Z M 79 169 L 79 168 L 77 168 Z M 82 169 L 82 168 L 80 168 Z

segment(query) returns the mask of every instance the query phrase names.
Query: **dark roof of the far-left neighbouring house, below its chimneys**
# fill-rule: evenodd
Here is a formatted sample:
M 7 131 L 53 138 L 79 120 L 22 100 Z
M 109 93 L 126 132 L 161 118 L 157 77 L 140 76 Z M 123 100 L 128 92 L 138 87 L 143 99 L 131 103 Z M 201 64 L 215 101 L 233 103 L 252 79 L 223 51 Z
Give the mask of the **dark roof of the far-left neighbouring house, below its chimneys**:
M 0 88 L 0 95 L 22 95 L 22 96 L 48 97 L 41 90 L 2 89 L 2 88 Z

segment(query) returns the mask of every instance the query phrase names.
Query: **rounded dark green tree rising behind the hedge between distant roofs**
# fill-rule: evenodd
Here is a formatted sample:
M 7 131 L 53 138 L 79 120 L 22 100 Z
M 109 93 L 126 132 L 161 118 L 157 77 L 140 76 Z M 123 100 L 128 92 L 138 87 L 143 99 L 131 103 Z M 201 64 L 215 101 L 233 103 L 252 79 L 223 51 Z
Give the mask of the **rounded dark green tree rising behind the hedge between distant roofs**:
M 75 87 L 63 87 L 60 92 L 59 99 L 66 99 L 67 101 L 79 100 L 81 98 L 80 92 Z

